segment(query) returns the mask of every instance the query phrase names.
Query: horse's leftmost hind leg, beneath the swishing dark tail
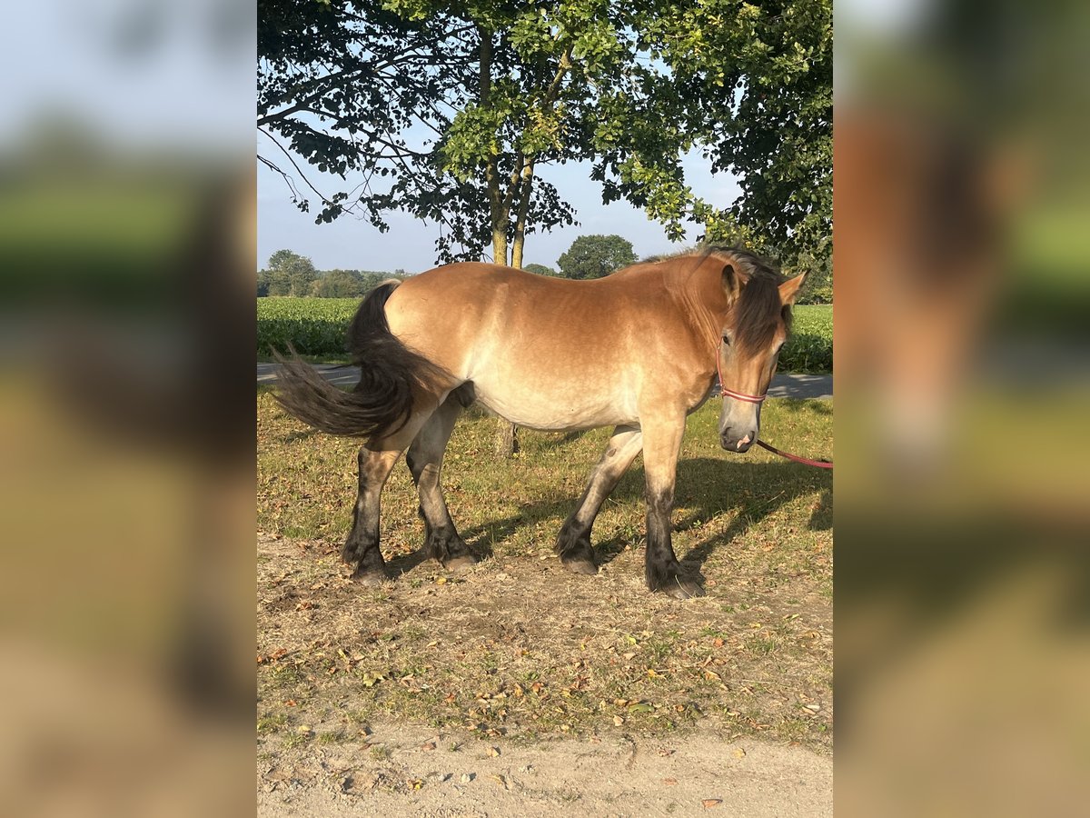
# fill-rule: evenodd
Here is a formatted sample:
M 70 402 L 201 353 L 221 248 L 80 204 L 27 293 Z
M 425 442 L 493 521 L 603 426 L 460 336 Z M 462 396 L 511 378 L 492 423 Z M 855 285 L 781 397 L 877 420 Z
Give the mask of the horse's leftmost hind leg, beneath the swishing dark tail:
M 368 441 L 360 447 L 359 494 L 352 517 L 352 530 L 341 548 L 341 557 L 349 565 L 355 565 L 352 578 L 364 585 L 377 585 L 386 576 L 386 563 L 378 548 L 378 518 L 383 486 L 390 476 L 398 457 L 427 420 L 429 413 L 421 413 L 409 421 L 395 434 L 380 440 Z

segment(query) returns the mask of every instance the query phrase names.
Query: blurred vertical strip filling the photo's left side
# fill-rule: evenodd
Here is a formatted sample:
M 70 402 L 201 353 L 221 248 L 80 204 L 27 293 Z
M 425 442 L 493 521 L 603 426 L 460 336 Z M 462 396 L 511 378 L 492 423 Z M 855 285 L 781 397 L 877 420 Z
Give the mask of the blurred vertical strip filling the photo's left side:
M 254 5 L 0 26 L 0 804 L 253 804 Z

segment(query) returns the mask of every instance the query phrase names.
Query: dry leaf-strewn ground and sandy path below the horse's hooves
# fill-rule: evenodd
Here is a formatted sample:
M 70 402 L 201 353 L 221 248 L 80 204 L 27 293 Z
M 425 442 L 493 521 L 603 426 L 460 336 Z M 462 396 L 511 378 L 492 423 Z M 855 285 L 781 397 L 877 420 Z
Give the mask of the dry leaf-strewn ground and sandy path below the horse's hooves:
M 827 600 L 678 603 L 641 560 L 408 555 L 373 590 L 335 546 L 259 536 L 258 814 L 832 814 Z

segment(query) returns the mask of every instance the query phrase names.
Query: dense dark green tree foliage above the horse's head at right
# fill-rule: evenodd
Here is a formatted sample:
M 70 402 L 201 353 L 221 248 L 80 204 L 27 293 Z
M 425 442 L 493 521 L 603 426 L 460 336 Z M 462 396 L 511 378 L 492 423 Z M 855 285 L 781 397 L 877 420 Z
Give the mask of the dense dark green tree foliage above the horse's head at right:
M 699 142 L 712 169 L 731 170 L 742 188 L 728 207 L 694 202 L 692 218 L 708 239 L 744 243 L 788 272 L 810 270 L 802 300 L 831 297 L 832 0 L 755 0 L 740 9 L 735 0 L 703 0 L 675 17 L 666 41 L 678 83 L 704 106 Z

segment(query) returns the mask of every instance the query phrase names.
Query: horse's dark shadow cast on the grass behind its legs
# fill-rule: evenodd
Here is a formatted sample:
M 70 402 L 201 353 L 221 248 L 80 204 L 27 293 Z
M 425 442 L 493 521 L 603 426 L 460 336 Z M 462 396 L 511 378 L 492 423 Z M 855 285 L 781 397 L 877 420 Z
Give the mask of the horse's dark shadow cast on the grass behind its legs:
M 610 494 L 615 501 L 638 501 L 644 496 L 644 472 L 642 467 L 633 467 L 621 478 Z M 821 493 L 818 507 L 811 513 L 808 528 L 816 531 L 828 530 L 833 526 L 833 480 L 824 470 L 809 469 L 795 464 L 778 462 L 730 462 L 729 460 L 699 457 L 678 464 L 675 488 L 675 507 L 683 508 L 680 519 L 675 517 L 673 530 L 685 532 L 713 517 L 734 513 L 730 525 L 691 546 L 680 562 L 690 572 L 700 568 L 717 549 L 761 524 L 770 515 L 797 497 Z M 494 544 L 510 538 L 521 526 L 532 520 L 559 518 L 562 520 L 574 509 L 578 496 L 570 500 L 529 503 L 518 514 L 491 520 L 463 530 L 462 538 L 483 557 L 493 555 Z M 611 563 L 617 556 L 643 539 L 642 526 L 637 543 L 617 532 L 606 540 L 592 537 L 595 558 L 600 566 Z M 557 525 L 559 530 L 559 524 Z M 395 570 L 404 573 L 420 565 L 426 555 L 421 552 L 408 554 L 390 562 Z

